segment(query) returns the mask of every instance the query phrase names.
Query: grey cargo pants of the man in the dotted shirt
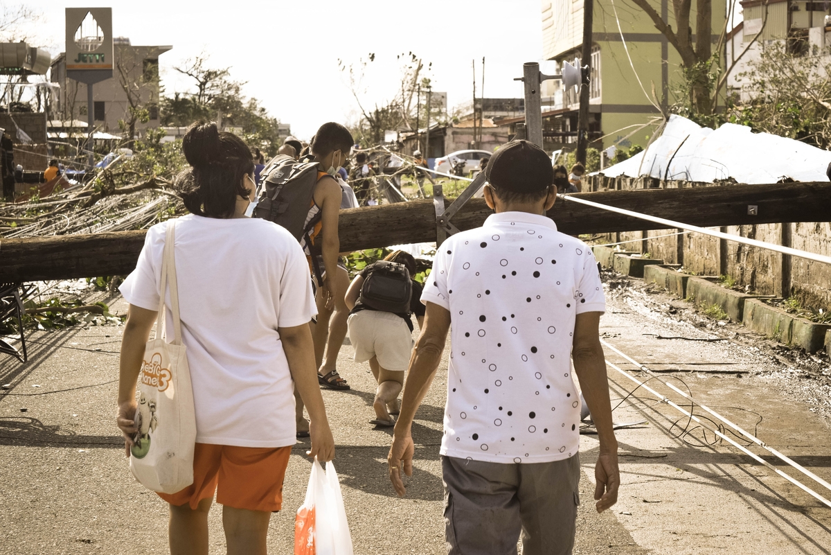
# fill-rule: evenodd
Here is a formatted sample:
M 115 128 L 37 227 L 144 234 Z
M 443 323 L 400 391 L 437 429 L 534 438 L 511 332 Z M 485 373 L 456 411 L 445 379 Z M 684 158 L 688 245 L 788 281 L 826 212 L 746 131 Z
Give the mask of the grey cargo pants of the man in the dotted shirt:
M 569 555 L 580 459 L 500 464 L 441 457 L 448 555 Z

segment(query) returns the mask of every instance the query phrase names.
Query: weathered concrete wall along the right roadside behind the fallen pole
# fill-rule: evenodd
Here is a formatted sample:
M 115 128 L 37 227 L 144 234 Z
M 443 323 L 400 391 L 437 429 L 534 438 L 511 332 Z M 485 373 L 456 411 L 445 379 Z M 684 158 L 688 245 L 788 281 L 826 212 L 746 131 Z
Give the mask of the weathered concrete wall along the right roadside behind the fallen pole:
M 711 184 L 657 179 L 609 179 L 589 176 L 588 189 L 666 189 L 706 187 Z M 587 190 L 587 189 L 584 189 Z M 808 308 L 831 310 L 831 266 L 802 258 L 787 258 L 764 248 L 753 248 L 701 233 L 677 233 L 676 229 L 648 232 L 607 233 L 609 243 L 631 241 L 622 250 L 650 253 L 666 263 L 682 264 L 686 271 L 704 276 L 728 275 L 751 292 L 777 297 L 795 297 Z M 831 223 L 769 223 L 721 228 L 720 231 L 766 243 L 786 245 L 809 253 L 831 256 Z M 663 236 L 663 237 L 660 237 Z M 679 243 L 680 238 L 680 243 Z M 788 244 L 789 243 L 789 244 Z M 784 260 L 783 260 L 784 258 Z

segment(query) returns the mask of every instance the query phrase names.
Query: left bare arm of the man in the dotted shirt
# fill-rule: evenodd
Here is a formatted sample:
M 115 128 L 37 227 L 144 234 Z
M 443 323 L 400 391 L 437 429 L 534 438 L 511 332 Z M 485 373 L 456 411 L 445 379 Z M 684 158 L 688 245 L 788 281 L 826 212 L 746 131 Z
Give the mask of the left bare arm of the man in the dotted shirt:
M 445 351 L 447 332 L 450 332 L 450 312 L 434 302 L 427 303 L 424 327 L 416 342 L 407 371 L 404 396 L 401 399 L 401 415 L 398 416 L 392 447 L 387 456 L 390 465 L 390 480 L 396 494 L 406 494 L 404 481 L 401 479 L 401 467 L 407 476 L 413 474 L 413 454 L 415 446 L 411 437 L 413 420 L 416 418 L 421 401 L 424 400 L 430 385 L 439 369 L 441 353 Z

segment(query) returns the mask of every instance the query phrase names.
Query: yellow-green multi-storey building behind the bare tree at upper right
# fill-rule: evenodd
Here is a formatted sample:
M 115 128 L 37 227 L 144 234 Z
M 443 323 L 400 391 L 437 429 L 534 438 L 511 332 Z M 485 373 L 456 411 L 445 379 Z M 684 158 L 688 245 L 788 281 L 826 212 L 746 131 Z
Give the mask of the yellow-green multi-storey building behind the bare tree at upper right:
M 590 0 L 591 1 L 591 0 Z M 652 19 L 632 0 L 593 0 L 589 135 L 592 146 L 645 146 L 647 136 L 675 103 L 683 82 L 681 56 Z M 560 73 L 563 61 L 582 57 L 584 0 L 543 0 L 543 59 L 553 63 L 543 73 Z M 649 0 L 656 12 L 677 29 L 672 2 Z M 726 2 L 713 0 L 711 41 L 719 42 Z M 696 2 L 690 13 L 696 34 Z M 547 70 L 547 71 L 545 71 Z M 543 140 L 546 150 L 576 142 L 579 96 L 563 91 L 562 81 L 543 83 Z M 646 125 L 638 130 L 641 125 Z

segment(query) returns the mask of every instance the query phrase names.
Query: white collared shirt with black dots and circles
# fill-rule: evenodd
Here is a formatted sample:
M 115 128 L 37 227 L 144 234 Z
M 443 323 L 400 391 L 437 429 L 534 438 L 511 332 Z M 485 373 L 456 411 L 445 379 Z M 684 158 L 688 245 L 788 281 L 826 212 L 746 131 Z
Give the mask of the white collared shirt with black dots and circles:
M 574 321 L 606 310 L 590 248 L 545 216 L 493 214 L 441 244 L 421 302 L 452 322 L 441 454 L 509 464 L 578 452 Z

